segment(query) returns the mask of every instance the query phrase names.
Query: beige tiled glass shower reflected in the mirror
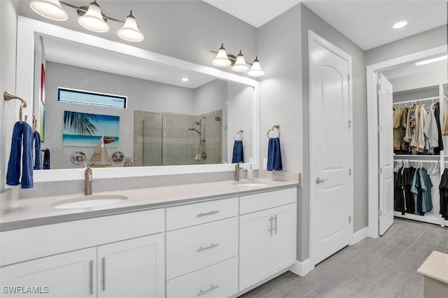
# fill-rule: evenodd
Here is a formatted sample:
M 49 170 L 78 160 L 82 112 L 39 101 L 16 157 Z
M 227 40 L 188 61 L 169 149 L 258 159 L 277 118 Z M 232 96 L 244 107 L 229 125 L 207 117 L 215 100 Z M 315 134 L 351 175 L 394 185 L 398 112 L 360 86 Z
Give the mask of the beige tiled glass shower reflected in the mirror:
M 222 110 L 202 115 L 134 111 L 134 166 L 221 164 Z

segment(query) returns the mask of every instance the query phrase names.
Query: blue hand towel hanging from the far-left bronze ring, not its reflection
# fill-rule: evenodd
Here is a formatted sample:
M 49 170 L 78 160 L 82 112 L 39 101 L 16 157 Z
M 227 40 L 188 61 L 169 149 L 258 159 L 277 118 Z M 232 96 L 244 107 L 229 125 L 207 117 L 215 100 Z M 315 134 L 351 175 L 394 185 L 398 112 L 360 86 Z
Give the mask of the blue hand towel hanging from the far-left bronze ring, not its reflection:
M 22 184 L 22 188 L 33 187 L 33 129 L 27 122 L 16 122 L 6 173 L 7 185 Z M 22 150 L 23 147 L 23 150 Z M 20 178 L 20 154 L 22 154 L 22 179 Z

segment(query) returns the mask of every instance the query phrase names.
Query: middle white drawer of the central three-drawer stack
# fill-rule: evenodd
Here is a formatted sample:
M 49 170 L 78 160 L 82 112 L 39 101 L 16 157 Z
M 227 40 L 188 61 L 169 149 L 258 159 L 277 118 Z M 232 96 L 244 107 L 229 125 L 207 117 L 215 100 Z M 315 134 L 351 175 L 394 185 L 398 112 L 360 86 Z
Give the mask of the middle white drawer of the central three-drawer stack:
M 238 218 L 167 232 L 167 280 L 238 255 Z

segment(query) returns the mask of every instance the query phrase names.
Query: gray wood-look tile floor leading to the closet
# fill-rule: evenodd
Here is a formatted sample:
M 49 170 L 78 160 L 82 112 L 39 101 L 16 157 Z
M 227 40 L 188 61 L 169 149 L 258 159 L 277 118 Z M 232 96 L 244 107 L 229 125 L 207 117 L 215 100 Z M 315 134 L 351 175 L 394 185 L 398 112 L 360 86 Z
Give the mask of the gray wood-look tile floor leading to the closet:
M 448 227 L 395 218 L 384 236 L 347 246 L 306 276 L 288 271 L 241 297 L 419 298 L 417 269 L 433 250 L 448 253 Z

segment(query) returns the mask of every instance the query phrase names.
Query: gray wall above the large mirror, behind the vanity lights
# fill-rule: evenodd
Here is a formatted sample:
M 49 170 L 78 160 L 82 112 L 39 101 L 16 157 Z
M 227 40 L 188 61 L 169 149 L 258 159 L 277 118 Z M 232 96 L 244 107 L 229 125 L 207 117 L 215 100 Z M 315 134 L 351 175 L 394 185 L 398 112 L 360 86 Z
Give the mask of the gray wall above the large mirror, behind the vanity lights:
M 3 1 L 3 0 L 1 0 Z M 106 33 L 94 33 L 80 27 L 76 10 L 66 8 L 69 20 L 57 22 L 45 19 L 29 8 L 29 0 L 20 0 L 19 14 L 31 19 L 43 20 L 60 27 L 81 31 L 102 38 L 127 43 L 116 34 L 120 24 L 110 23 Z M 85 6 L 89 1 L 71 0 L 71 4 Z M 209 50 L 218 50 L 224 43 L 228 53 L 242 50 L 248 61 L 257 54 L 257 29 L 232 15 L 223 13 L 200 0 L 151 0 L 151 1 L 99 1 L 102 12 L 119 20 L 125 20 L 132 9 L 137 24 L 145 36 L 140 43 L 128 43 L 138 48 L 189 62 L 211 66 Z M 230 68 L 223 68 L 230 71 Z

